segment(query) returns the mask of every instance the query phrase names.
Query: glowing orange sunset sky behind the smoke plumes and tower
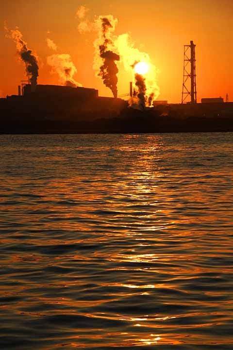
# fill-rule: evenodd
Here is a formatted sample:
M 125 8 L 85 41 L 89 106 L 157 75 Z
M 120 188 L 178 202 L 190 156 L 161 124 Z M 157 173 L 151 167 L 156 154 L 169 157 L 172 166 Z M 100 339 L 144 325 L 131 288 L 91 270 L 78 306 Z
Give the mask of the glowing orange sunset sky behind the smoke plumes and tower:
M 38 4 L 39 3 L 39 4 Z M 202 97 L 233 101 L 233 0 L 118 0 L 85 2 L 77 0 L 7 0 L 0 4 L 0 97 L 17 94 L 25 79 L 24 66 L 18 61 L 13 40 L 5 38 L 4 20 L 16 26 L 28 47 L 39 57 L 39 84 L 59 84 L 50 74 L 46 45 L 47 31 L 58 46 L 57 53 L 69 53 L 77 68 L 76 81 L 84 87 L 99 89 L 99 95 L 112 96 L 93 70 L 95 33 L 81 35 L 75 16 L 80 5 L 89 8 L 88 17 L 112 14 L 118 19 L 116 35 L 131 33 L 135 47 L 150 55 L 159 69 L 159 100 L 180 103 L 183 83 L 183 45 L 193 40 L 196 47 L 198 102 Z M 230 64 L 231 62 L 231 64 Z M 129 92 L 131 75 L 119 66 L 118 94 Z

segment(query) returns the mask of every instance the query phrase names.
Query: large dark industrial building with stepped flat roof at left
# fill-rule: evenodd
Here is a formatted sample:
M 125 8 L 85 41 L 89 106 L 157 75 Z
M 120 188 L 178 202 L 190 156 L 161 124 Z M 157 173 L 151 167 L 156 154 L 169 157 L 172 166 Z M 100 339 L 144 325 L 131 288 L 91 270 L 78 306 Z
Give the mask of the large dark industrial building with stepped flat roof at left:
M 14 118 L 68 120 L 118 115 L 128 103 L 119 98 L 99 97 L 94 88 L 22 84 L 18 95 L 7 96 L 0 107 Z M 22 94 L 21 94 L 22 92 Z

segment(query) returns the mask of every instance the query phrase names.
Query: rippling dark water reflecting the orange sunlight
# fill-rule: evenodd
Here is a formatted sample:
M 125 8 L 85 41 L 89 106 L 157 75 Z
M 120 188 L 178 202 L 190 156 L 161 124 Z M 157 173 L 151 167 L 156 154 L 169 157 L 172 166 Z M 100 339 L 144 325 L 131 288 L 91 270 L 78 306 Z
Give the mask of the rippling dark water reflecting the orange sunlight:
M 0 136 L 0 349 L 233 349 L 233 133 Z

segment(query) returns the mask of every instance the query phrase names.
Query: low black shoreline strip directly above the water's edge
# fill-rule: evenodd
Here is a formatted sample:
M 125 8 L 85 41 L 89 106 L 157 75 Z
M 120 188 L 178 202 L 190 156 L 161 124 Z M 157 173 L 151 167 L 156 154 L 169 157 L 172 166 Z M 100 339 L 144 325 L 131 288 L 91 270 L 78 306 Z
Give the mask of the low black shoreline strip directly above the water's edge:
M 113 118 L 94 120 L 18 120 L 1 121 L 1 134 L 88 134 L 88 133 L 160 133 L 160 132 L 227 132 L 233 131 L 233 118 L 185 119 L 155 113 L 133 111 L 132 117 L 125 114 Z

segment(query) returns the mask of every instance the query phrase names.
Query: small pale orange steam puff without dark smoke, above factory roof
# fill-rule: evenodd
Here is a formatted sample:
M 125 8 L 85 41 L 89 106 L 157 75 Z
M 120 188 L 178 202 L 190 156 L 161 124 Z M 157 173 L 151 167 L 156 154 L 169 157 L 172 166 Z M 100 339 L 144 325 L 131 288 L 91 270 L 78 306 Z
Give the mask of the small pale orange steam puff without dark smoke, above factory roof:
M 76 82 L 73 78 L 77 69 L 69 54 L 53 54 L 47 57 L 47 63 L 52 67 L 52 73 L 57 73 L 59 75 L 60 81 L 63 85 L 72 88 L 82 87 L 82 84 Z

